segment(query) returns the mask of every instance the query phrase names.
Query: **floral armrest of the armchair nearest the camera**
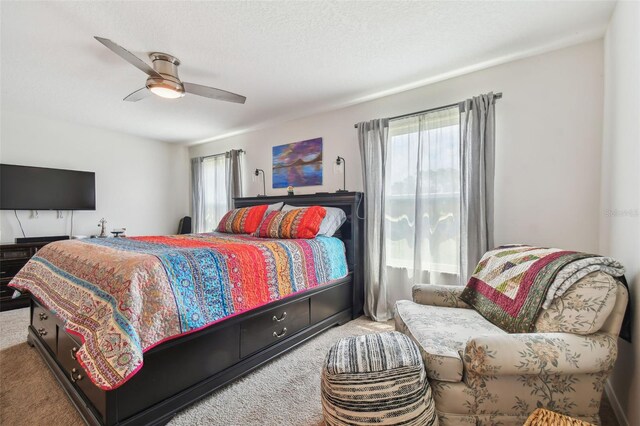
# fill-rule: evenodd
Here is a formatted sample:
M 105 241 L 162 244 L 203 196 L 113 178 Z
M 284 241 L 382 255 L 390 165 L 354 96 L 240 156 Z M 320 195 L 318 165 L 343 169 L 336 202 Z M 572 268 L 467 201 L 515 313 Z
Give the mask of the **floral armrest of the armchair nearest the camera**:
M 469 339 L 463 363 L 482 376 L 585 374 L 611 370 L 617 356 L 618 342 L 606 333 L 500 334 Z

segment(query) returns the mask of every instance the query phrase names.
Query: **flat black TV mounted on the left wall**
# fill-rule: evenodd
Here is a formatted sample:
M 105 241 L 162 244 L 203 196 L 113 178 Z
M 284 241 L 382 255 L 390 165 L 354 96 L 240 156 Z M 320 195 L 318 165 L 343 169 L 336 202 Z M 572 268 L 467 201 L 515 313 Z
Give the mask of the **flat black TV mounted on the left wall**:
M 1 210 L 95 210 L 96 174 L 0 164 Z

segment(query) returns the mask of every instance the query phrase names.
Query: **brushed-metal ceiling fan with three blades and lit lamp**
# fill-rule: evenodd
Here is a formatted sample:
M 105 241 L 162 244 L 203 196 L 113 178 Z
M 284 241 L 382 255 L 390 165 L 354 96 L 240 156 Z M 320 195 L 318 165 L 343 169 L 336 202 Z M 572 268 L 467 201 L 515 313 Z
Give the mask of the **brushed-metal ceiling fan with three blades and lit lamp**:
M 149 76 L 145 87 L 125 97 L 123 99 L 125 101 L 137 102 L 148 96 L 149 92 L 170 99 L 181 98 L 185 93 L 191 93 L 219 101 L 236 102 L 239 104 L 243 104 L 247 100 L 244 96 L 227 92 L 226 90 L 181 81 L 178 77 L 180 61 L 175 56 L 161 52 L 150 53 L 149 58 L 153 64 L 152 68 L 145 61 L 111 40 L 102 37 L 94 38 L 104 44 L 113 53 Z

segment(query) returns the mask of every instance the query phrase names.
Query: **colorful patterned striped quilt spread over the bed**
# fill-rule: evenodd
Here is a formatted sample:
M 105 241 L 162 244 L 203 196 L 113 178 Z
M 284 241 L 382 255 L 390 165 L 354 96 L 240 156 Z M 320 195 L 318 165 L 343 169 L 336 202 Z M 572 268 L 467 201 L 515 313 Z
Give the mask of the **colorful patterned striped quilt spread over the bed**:
M 78 361 L 110 390 L 164 341 L 346 275 L 337 238 L 214 232 L 51 243 L 9 285 L 31 292 L 82 339 Z

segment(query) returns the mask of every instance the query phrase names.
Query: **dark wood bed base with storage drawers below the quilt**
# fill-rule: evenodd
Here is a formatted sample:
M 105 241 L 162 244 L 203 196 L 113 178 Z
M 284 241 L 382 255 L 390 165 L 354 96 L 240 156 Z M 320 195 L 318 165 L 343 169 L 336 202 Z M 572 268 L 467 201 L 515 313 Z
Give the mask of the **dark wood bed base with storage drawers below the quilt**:
M 316 334 L 352 318 L 352 276 L 229 318 L 145 353 L 143 368 L 112 391 L 97 388 L 75 357 L 80 342 L 31 302 L 29 342 L 92 425 L 160 425 L 177 411 Z

